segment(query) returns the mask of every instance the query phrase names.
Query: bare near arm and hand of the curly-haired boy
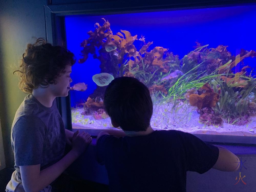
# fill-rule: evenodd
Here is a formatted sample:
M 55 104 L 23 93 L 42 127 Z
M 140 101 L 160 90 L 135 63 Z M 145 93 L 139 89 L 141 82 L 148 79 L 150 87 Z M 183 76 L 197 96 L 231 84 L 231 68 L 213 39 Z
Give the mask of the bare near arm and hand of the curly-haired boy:
M 25 191 L 40 191 L 47 187 L 84 152 L 91 141 L 92 138 L 89 134 L 77 131 L 72 138 L 72 149 L 57 163 L 42 171 L 40 171 L 40 164 L 20 166 L 21 180 Z

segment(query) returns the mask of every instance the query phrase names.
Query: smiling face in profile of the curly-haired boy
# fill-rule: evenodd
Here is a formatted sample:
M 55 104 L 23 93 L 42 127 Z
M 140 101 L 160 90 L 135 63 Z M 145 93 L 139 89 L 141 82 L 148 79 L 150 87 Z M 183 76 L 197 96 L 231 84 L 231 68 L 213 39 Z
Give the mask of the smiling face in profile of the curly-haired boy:
M 66 97 L 68 96 L 68 91 L 70 90 L 70 83 L 72 79 L 70 78 L 71 65 L 66 65 L 64 72 L 60 73 L 55 81 L 56 84 L 50 84 L 51 91 L 55 97 Z

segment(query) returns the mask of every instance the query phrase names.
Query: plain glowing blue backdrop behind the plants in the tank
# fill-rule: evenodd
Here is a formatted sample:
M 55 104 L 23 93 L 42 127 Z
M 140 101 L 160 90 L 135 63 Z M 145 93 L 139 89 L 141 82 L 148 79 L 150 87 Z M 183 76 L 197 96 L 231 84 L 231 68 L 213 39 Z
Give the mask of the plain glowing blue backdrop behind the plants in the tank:
M 174 55 L 182 59 L 188 52 L 193 51 L 196 41 L 201 45 L 209 44 L 208 48 L 218 45 L 228 45 L 232 55 L 244 50 L 256 50 L 255 24 L 256 6 L 235 6 L 207 9 L 190 9 L 164 12 L 143 12 L 115 15 L 73 15 L 65 17 L 67 47 L 76 56 L 76 64 L 72 67 L 73 84 L 84 82 L 88 84 L 85 92 L 71 91 L 71 107 L 86 101 L 96 89 L 92 81 L 94 74 L 100 73 L 100 61 L 92 55 L 82 64 L 80 44 L 94 31 L 94 24 L 102 26 L 104 18 L 109 21 L 114 35 L 120 30 L 129 31 L 132 36 L 145 36 L 146 43 L 153 41 L 149 51 L 156 46 L 168 48 Z M 141 41 L 134 44 L 140 45 Z M 138 48 L 138 46 L 136 46 Z M 254 68 L 255 58 L 246 58 L 245 65 Z M 239 69 L 238 69 L 239 70 Z

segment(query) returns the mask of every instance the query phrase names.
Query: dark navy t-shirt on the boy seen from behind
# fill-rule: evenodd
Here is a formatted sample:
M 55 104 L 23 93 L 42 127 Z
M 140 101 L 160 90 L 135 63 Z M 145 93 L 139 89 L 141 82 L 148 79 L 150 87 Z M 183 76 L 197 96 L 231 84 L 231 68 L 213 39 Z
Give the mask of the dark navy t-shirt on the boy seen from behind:
M 97 159 L 106 166 L 110 191 L 186 191 L 187 171 L 207 172 L 218 156 L 216 146 L 176 130 L 137 137 L 102 135 L 97 142 Z

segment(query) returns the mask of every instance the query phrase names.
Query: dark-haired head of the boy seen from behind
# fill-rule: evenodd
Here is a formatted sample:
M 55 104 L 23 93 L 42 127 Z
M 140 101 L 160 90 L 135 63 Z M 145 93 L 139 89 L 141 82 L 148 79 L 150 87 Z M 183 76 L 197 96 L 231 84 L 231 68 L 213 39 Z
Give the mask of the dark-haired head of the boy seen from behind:
M 104 106 L 114 127 L 146 131 L 150 125 L 153 103 L 147 86 L 136 78 L 114 79 L 105 91 Z

